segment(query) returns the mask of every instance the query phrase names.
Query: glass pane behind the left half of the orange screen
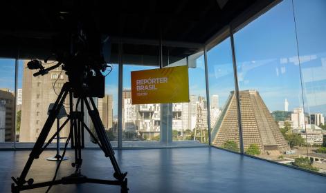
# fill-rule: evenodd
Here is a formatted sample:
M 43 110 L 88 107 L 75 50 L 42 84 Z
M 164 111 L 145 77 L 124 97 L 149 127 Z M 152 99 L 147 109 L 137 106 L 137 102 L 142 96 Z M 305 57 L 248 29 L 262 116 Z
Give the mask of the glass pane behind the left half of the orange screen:
M 150 147 L 161 139 L 161 104 L 132 105 L 131 72 L 159 68 L 159 47 L 123 44 L 123 146 Z M 146 143 L 151 142 L 151 143 Z

